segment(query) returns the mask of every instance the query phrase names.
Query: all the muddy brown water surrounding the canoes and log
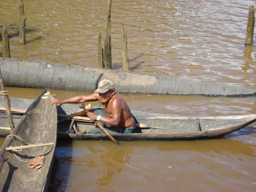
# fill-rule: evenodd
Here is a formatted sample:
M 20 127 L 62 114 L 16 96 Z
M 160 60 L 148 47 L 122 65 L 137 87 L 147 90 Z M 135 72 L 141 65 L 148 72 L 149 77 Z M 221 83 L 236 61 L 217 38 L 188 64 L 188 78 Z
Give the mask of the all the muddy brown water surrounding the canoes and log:
M 0 24 L 12 35 L 11 57 L 97 67 L 106 2 L 24 1 L 29 43 L 20 45 L 15 27 L 18 1 L 0 0 Z M 254 0 L 113 0 L 113 69 L 121 68 L 124 22 L 131 71 L 256 88 L 255 38 L 253 45 L 244 46 L 251 4 L 256 6 Z M 2 41 L 0 55 L 1 45 Z M 10 97 L 30 99 L 43 91 L 7 90 Z M 50 91 L 57 98 L 89 94 Z M 256 97 L 121 96 L 132 110 L 148 112 L 189 116 L 256 112 Z M 0 138 L 0 145 L 3 142 Z M 120 145 L 58 140 L 49 192 L 254 192 L 255 162 L 255 123 L 210 140 L 120 141 Z

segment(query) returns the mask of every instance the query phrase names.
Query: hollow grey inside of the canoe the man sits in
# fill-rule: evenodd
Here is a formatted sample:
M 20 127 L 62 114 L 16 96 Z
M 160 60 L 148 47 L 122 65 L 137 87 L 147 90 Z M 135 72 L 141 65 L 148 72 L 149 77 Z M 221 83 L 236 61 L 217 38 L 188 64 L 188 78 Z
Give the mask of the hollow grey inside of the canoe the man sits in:
M 247 122 L 256 121 L 256 115 L 244 116 L 232 116 L 232 119 L 200 119 L 200 117 L 187 117 L 180 118 L 171 116 L 136 116 L 136 122 L 140 124 L 150 125 L 152 128 L 136 128 L 135 133 L 161 133 L 161 134 L 170 134 L 170 133 L 189 133 L 189 132 L 205 132 L 214 129 L 227 128 L 227 127 L 239 127 L 242 128 L 247 125 Z M 71 120 L 62 121 L 58 125 L 58 132 L 67 132 Z M 95 129 L 93 123 L 75 121 L 72 129 L 76 127 L 83 127 L 87 132 Z M 156 127 L 156 128 L 154 128 Z M 163 128 L 163 129 L 157 129 Z M 81 128 L 80 128 L 81 129 Z

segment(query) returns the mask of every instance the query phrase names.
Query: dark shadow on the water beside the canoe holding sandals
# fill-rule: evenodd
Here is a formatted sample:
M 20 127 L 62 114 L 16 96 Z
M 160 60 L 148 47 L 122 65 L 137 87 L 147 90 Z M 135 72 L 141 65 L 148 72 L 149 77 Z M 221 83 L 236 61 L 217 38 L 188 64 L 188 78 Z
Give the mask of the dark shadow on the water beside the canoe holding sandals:
M 58 140 L 48 192 L 65 191 L 72 156 L 72 140 Z

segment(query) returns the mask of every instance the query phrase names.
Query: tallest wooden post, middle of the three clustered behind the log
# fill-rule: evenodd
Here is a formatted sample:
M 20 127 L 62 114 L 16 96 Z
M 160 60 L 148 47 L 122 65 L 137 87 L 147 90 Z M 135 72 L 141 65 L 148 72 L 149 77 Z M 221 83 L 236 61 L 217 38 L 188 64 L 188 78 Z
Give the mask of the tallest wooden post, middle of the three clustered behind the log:
M 106 17 L 106 26 L 105 26 L 105 41 L 104 41 L 104 67 L 106 69 L 111 69 L 111 0 L 108 0 L 108 11 Z

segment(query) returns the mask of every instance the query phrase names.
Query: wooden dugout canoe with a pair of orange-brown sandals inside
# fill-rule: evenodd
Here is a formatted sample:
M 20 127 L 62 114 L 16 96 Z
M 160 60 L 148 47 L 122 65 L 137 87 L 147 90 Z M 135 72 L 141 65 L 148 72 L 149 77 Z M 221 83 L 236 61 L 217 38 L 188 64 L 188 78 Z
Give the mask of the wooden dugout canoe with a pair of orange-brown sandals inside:
M 0 191 L 10 192 L 47 192 L 52 164 L 54 160 L 57 112 L 56 106 L 49 104 L 52 96 L 49 92 L 43 92 L 28 107 L 25 114 L 20 116 L 19 122 L 4 142 L 0 155 L 7 158 L 0 172 Z M 5 114 L 6 115 L 6 114 Z M 31 145 L 43 145 L 43 147 L 31 147 Z M 7 147 L 19 147 L 22 151 L 7 151 Z M 44 147 L 47 145 L 46 147 Z M 39 169 L 29 168 L 29 161 L 38 155 L 44 155 L 43 166 Z

